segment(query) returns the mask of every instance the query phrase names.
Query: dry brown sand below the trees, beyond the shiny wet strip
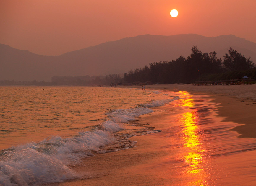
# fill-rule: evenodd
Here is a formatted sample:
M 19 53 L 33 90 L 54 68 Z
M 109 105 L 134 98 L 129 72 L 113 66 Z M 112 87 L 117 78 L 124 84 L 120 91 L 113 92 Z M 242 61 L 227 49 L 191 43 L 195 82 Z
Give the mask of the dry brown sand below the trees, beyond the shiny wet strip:
M 116 88 L 138 88 L 141 86 L 118 86 Z M 213 98 L 212 102 L 219 103 L 217 115 L 223 121 L 244 124 L 230 130 L 239 133 L 238 138 L 256 138 L 256 84 L 253 85 L 207 85 L 191 84 L 159 84 L 146 85 L 145 89 L 186 91 L 190 94 L 205 94 Z

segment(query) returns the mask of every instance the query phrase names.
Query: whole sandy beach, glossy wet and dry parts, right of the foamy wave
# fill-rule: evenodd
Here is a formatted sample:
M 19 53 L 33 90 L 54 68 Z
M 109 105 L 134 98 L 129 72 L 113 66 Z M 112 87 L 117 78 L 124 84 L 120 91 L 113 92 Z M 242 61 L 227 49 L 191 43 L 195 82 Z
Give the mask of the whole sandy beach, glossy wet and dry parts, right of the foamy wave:
M 84 159 L 74 170 L 86 179 L 51 185 L 256 184 L 255 85 L 145 88 L 182 91 L 186 99 L 137 118 L 161 132 L 130 138 L 134 148 Z

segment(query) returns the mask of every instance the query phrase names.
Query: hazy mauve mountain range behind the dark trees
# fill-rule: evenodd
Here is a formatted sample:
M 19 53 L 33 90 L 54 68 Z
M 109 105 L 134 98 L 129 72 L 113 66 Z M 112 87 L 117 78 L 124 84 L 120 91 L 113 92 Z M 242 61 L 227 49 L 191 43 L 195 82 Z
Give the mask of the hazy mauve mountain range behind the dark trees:
M 256 43 L 234 35 L 140 35 L 60 56 L 37 55 L 0 44 L 0 80 L 50 81 L 52 76 L 119 74 L 155 61 L 187 57 L 193 45 L 203 53 L 216 51 L 221 58 L 232 47 L 256 62 Z

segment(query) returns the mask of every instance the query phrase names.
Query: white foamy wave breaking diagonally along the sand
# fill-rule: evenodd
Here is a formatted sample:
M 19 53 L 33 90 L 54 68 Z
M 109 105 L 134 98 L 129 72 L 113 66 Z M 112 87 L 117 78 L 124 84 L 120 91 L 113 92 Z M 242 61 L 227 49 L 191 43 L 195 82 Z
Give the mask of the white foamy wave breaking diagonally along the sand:
M 72 138 L 50 136 L 39 143 L 4 149 L 0 151 L 0 185 L 40 185 L 79 178 L 70 166 L 81 163 L 82 158 L 131 148 L 136 141 L 129 140 L 130 137 L 159 132 L 145 126 L 142 130 L 127 131 L 124 123 L 153 112 L 149 107 L 161 106 L 170 101 L 155 101 L 135 108 L 112 110 L 106 113 L 109 118 L 107 121 L 89 131 L 81 131 Z M 136 125 L 136 122 L 133 124 Z M 118 131 L 124 132 L 116 134 Z

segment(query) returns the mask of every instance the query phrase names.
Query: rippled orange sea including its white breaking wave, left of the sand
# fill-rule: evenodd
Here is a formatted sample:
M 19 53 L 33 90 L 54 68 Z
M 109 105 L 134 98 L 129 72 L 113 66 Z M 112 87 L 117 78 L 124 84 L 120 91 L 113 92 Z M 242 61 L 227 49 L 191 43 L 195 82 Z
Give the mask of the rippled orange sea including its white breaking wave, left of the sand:
M 70 167 L 81 159 L 133 147 L 130 137 L 159 132 L 128 129 L 128 122 L 174 99 L 175 93 L 141 89 L 0 87 L 0 185 L 79 178 Z

